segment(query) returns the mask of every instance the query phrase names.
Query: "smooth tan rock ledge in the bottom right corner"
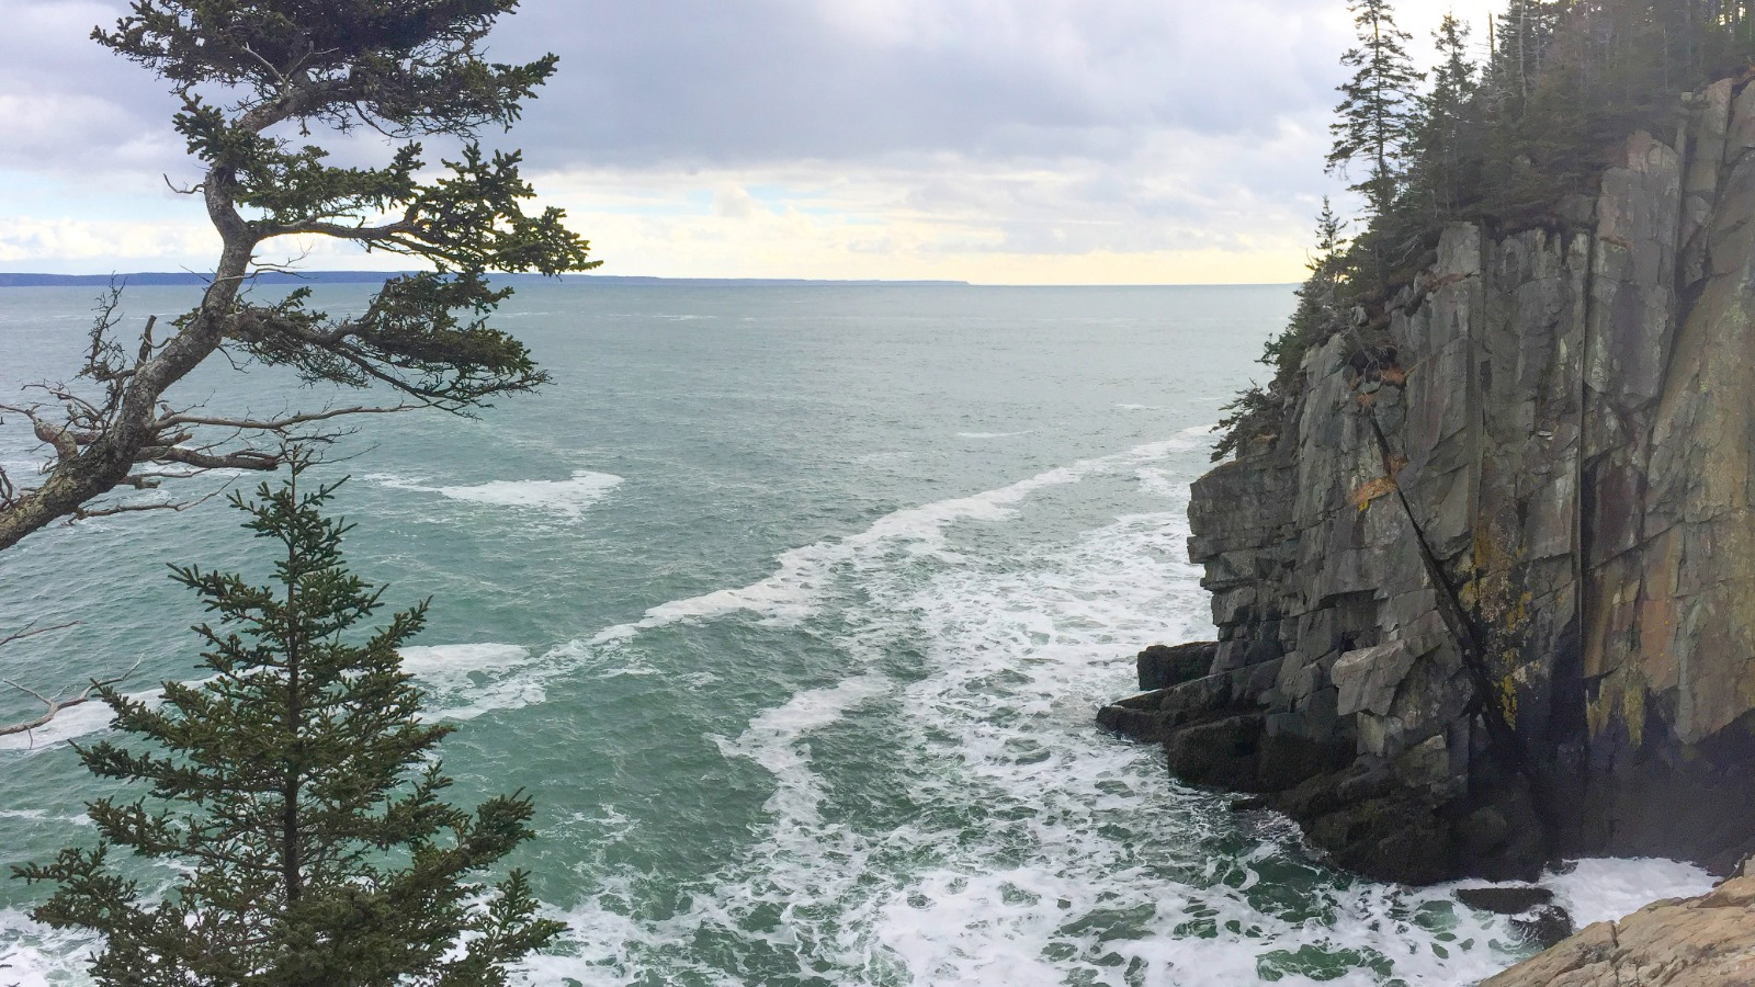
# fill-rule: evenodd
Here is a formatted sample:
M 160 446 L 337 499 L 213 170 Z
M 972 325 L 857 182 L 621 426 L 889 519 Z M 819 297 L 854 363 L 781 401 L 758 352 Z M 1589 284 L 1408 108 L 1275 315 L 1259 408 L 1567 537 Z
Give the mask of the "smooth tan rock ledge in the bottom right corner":
M 1755 983 L 1755 878 L 1587 926 L 1481 987 L 1727 987 Z

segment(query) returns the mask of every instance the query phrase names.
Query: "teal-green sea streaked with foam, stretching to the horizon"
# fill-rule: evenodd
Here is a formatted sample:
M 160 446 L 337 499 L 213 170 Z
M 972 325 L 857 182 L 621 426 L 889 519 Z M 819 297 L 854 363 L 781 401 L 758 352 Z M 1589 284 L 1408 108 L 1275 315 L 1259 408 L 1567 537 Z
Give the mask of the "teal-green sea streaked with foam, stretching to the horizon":
M 318 292 L 333 311 L 365 297 Z M 88 295 L 0 293 L 5 393 L 67 374 Z M 518 864 L 570 933 L 528 980 L 1415 985 L 1511 962 L 1502 920 L 1339 875 L 1093 727 L 1135 650 L 1211 630 L 1188 481 L 1292 302 L 537 286 L 505 323 L 555 386 L 342 441 L 325 469 L 351 474 L 355 567 L 393 601 L 433 597 L 405 657 L 460 727 L 456 796 L 539 803 Z M 335 395 L 254 369 L 179 397 L 269 413 Z M 7 421 L 0 464 L 28 453 Z M 221 483 L 256 478 L 183 490 Z M 261 569 L 218 499 L 0 553 L 0 629 L 81 622 L 7 648 L 0 676 L 54 688 L 139 660 L 142 692 L 195 678 L 200 615 L 167 562 Z M 0 720 L 28 715 L 0 692 Z M 0 868 L 90 839 L 100 789 L 65 741 L 104 720 L 0 739 Z M 1699 882 L 1615 875 L 1627 899 Z M 1574 880 L 1585 911 L 1611 906 L 1585 901 L 1601 885 Z M 35 899 L 0 880 L 0 983 L 81 983 L 90 943 L 30 924 Z

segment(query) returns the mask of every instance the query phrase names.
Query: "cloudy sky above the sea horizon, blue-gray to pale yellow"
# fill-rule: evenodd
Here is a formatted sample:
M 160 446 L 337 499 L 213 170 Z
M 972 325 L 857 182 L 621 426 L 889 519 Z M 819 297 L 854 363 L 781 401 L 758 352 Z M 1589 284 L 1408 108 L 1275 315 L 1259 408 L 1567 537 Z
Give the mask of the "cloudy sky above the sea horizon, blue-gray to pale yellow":
M 0 270 L 212 269 L 176 104 L 88 37 L 123 9 L 0 0 Z M 1416 58 L 1451 9 L 1485 39 L 1479 0 L 1395 4 Z M 1350 44 L 1344 0 L 525 0 L 488 54 L 560 72 L 484 140 L 604 274 L 1288 283 L 1322 197 L 1350 207 Z

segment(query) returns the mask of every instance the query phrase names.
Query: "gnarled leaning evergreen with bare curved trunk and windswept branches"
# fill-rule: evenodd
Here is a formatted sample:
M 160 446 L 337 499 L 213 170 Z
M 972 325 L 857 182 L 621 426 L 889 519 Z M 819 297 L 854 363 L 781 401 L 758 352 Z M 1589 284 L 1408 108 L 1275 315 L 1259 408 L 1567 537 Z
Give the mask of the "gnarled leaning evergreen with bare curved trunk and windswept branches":
M 286 441 L 347 413 L 439 407 L 469 413 L 548 381 L 530 351 L 490 320 L 509 288 L 491 272 L 586 270 L 588 242 L 560 209 L 534 209 L 516 151 L 481 146 L 509 128 L 555 72 L 553 54 L 490 61 L 484 42 L 518 0 L 132 0 L 93 39 L 163 79 L 202 179 L 221 249 L 200 304 L 139 342 L 114 337 L 116 297 L 91 330 L 81 378 L 104 395 L 7 407 L 51 450 L 40 483 L 0 469 L 0 550 L 60 518 L 139 508 L 90 504 L 204 469 L 270 471 Z M 367 128 L 391 151 L 376 167 L 337 165 L 325 140 Z M 455 142 L 432 163 L 419 139 Z M 279 265 L 258 251 L 330 239 L 430 269 L 388 281 L 360 313 L 332 316 L 309 292 L 253 299 Z M 297 249 L 297 248 L 279 248 Z M 176 406 L 177 381 L 223 351 L 295 371 L 307 383 L 379 388 L 367 407 L 230 418 Z M 60 390 L 51 392 L 60 393 Z M 388 397 L 384 397 L 388 393 Z

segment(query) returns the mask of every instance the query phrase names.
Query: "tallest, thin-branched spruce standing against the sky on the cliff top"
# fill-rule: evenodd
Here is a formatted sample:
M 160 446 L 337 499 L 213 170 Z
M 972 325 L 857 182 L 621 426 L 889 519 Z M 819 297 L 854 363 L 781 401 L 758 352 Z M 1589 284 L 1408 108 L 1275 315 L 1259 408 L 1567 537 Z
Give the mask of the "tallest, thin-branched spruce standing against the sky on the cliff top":
M 1388 0 L 1355 0 L 1348 11 L 1358 30 L 1358 47 L 1341 56 L 1353 77 L 1329 130 L 1334 148 L 1329 170 L 1346 172 L 1364 163 L 1365 177 L 1350 188 L 1365 197 L 1374 216 L 1385 216 L 1400 190 L 1400 169 L 1413 133 L 1415 88 L 1423 76 L 1408 60 L 1408 32 L 1395 26 Z

